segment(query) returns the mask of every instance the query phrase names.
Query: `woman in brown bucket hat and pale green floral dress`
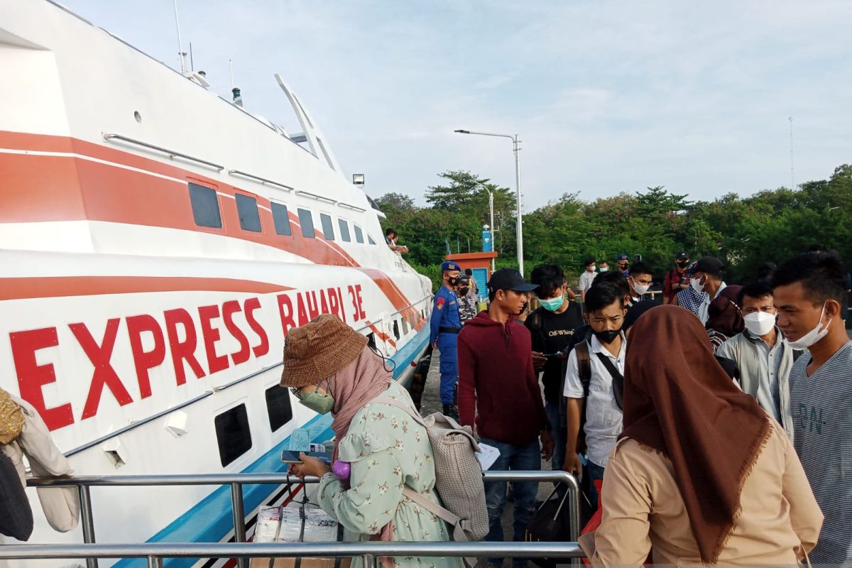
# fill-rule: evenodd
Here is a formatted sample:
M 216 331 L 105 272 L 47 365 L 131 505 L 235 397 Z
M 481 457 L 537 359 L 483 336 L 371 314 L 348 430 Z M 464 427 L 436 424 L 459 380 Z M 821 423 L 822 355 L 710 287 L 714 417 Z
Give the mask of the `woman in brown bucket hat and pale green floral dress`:
M 375 402 L 389 398 L 414 406 L 385 360 L 365 336 L 325 314 L 286 337 L 281 386 L 320 414 L 331 412 L 335 471 L 301 454 L 291 473 L 320 478 L 320 507 L 343 525 L 349 540 L 448 541 L 446 523 L 403 495 L 407 486 L 441 505 L 426 429 L 405 410 Z M 345 464 L 341 467 L 338 464 Z M 347 471 L 348 470 L 348 471 Z M 347 475 L 348 473 L 348 475 Z M 383 558 L 382 565 L 462 568 L 458 558 Z M 355 558 L 353 565 L 362 560 Z

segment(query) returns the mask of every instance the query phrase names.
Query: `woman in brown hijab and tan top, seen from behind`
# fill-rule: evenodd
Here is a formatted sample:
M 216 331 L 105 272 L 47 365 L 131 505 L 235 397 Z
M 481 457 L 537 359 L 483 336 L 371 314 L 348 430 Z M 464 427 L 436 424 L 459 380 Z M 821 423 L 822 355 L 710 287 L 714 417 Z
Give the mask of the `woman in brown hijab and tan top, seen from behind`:
M 593 565 L 641 565 L 652 550 L 654 564 L 796 565 L 822 526 L 784 430 L 676 306 L 633 326 L 602 502 L 601 526 L 581 542 Z

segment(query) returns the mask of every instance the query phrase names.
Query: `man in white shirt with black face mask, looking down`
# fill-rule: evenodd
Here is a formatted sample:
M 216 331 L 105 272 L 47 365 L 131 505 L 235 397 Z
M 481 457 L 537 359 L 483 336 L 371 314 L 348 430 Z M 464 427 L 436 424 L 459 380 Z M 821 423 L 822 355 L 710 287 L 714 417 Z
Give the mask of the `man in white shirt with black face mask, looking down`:
M 597 508 L 595 479 L 603 479 L 607 456 L 621 433 L 621 409 L 616 401 L 625 372 L 624 295 L 613 284 L 595 284 L 586 294 L 586 317 L 593 336 L 574 347 L 565 374 L 567 472 L 582 473 L 592 510 Z M 657 348 L 660 348 L 660 344 Z M 584 361 L 584 369 L 580 361 Z M 617 390 L 618 389 L 618 390 Z M 580 418 L 585 413 L 586 463 L 578 456 Z

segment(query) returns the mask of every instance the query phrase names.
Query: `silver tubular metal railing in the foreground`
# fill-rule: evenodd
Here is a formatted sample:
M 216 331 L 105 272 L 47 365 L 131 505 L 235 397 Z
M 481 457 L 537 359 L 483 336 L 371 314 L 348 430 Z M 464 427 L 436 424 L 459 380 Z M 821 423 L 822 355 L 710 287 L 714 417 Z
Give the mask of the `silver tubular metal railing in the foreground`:
M 160 568 L 166 558 L 233 558 L 248 568 L 251 558 L 331 557 L 364 559 L 375 568 L 382 556 L 523 556 L 524 558 L 580 558 L 579 485 L 564 471 L 494 471 L 483 473 L 486 483 L 552 481 L 565 485 L 570 542 L 246 542 L 243 485 L 318 483 L 286 473 L 199 473 L 176 475 L 95 475 L 63 478 L 30 478 L 30 487 L 78 488 L 83 544 L 14 544 L 0 547 L 0 559 L 85 559 L 87 568 L 98 568 L 98 559 L 144 558 L 149 568 Z M 233 511 L 234 542 L 143 542 L 104 544 L 95 542 L 95 514 L 91 487 L 229 485 Z

